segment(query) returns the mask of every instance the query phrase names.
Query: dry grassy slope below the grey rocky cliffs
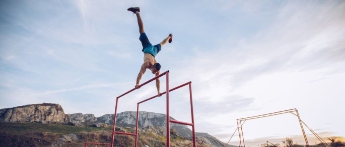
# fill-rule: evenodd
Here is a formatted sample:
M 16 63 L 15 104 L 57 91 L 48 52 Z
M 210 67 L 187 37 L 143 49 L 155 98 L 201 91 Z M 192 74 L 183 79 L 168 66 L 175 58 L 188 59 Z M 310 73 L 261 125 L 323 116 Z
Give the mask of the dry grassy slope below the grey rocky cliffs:
M 63 146 L 84 146 L 84 142 L 110 143 L 112 127 L 78 127 L 64 124 L 42 123 L 0 123 L 0 146 L 51 146 L 63 138 L 62 135 L 76 134 L 79 138 L 68 140 Z M 131 132 L 132 129 L 123 129 Z M 134 137 L 128 135 L 115 135 L 116 146 L 134 146 Z M 171 146 L 184 146 L 191 140 L 179 137 L 171 138 Z M 140 134 L 138 146 L 165 146 L 166 138 L 153 132 Z M 202 144 L 207 147 L 210 145 Z M 188 146 L 192 146 L 191 144 Z

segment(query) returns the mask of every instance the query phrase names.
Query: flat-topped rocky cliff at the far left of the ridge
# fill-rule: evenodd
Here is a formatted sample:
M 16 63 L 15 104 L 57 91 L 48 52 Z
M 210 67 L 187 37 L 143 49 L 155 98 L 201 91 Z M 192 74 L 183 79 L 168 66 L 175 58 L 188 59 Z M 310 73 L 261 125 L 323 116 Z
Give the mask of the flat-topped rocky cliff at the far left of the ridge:
M 59 104 L 43 103 L 0 109 L 0 122 L 67 123 L 70 117 L 64 114 Z

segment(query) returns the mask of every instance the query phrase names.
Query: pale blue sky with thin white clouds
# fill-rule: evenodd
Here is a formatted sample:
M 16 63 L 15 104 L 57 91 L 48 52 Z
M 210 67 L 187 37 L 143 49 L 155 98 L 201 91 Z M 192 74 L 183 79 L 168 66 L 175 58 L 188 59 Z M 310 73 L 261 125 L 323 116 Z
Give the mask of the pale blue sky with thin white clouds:
M 173 34 L 156 59 L 169 87 L 192 82 L 196 132 L 227 142 L 236 119 L 296 108 L 321 137 L 345 136 L 344 1 L 0 1 L 0 109 L 45 102 L 113 114 L 143 64 L 129 7 L 141 8 L 152 44 Z M 117 112 L 156 94 L 149 83 L 121 97 Z M 169 102 L 170 116 L 191 122 L 187 87 Z M 140 110 L 166 113 L 165 95 Z M 249 146 L 305 143 L 291 113 L 242 128 Z M 236 132 L 230 144 L 238 140 Z

